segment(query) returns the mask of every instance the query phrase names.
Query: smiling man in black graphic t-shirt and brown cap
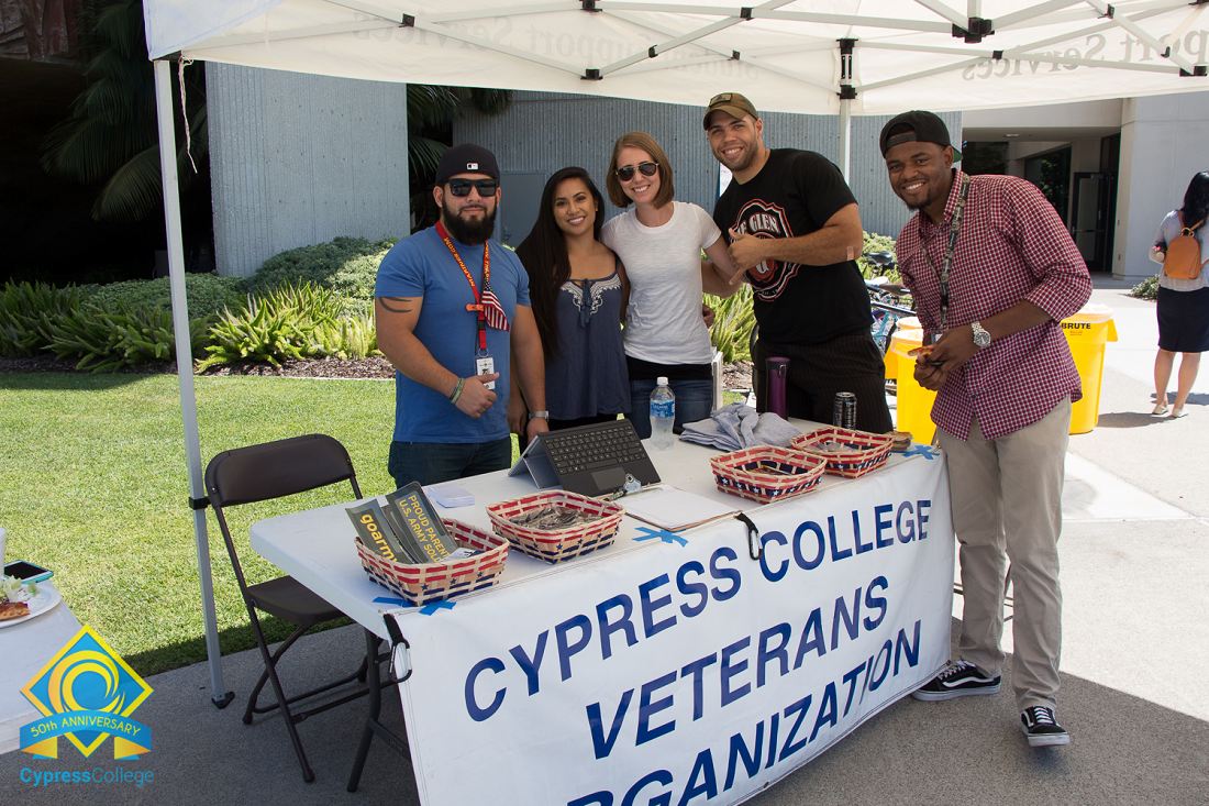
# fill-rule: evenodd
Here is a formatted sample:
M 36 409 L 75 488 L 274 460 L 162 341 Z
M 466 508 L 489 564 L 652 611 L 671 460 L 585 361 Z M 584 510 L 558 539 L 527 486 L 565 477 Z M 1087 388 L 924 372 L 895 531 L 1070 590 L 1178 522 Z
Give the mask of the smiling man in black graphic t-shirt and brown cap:
M 852 392 L 856 427 L 890 431 L 885 365 L 854 260 L 864 246 L 861 214 L 839 168 L 814 151 L 770 150 L 759 113 L 735 92 L 710 102 L 705 131 L 734 175 L 713 220 L 754 290 L 759 409 L 768 408 L 765 362 L 779 356 L 789 359 L 789 416 L 831 422 L 835 393 Z

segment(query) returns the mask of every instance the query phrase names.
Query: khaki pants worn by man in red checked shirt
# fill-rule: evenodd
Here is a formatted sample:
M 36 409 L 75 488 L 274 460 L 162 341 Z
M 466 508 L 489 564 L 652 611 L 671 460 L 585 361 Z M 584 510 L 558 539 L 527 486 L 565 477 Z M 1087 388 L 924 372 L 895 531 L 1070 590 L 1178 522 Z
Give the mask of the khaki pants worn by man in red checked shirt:
M 949 459 L 953 528 L 960 543 L 961 660 L 991 677 L 1000 674 L 1003 585 L 1011 562 L 1012 687 L 1022 710 L 1053 708 L 1058 693 L 1058 535 L 1069 432 L 1069 398 L 1037 422 L 989 442 L 977 419 L 968 442 L 937 431 Z

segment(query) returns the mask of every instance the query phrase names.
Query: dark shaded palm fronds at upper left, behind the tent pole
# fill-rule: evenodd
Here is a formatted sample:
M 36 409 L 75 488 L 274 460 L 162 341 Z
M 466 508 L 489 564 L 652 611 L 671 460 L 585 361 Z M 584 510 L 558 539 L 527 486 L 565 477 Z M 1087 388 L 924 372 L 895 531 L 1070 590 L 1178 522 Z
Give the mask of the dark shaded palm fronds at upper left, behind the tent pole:
M 92 217 L 137 221 L 155 212 L 163 197 L 155 77 L 147 61 L 141 0 L 91 0 L 81 10 L 81 41 L 88 58 L 88 87 L 76 98 L 71 116 L 42 142 L 42 168 L 53 175 L 91 184 L 104 182 Z M 178 123 L 177 168 L 181 188 L 208 154 L 206 82 L 202 67 L 184 70 L 189 98 L 187 138 Z M 173 76 L 173 104 L 180 88 Z M 174 119 L 179 121 L 180 110 Z M 189 143 L 190 150 L 186 150 Z

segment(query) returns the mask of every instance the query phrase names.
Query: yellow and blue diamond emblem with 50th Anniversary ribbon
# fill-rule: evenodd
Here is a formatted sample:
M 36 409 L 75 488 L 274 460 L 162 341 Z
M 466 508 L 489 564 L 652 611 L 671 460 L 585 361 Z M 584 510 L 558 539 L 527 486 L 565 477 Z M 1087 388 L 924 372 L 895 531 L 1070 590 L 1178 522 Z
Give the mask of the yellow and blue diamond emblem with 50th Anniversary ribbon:
M 110 736 L 115 759 L 151 750 L 151 729 L 129 719 L 151 686 L 92 627 L 76 633 L 21 692 L 45 715 L 21 729 L 21 749 L 35 758 L 59 758 L 60 736 L 85 758 Z

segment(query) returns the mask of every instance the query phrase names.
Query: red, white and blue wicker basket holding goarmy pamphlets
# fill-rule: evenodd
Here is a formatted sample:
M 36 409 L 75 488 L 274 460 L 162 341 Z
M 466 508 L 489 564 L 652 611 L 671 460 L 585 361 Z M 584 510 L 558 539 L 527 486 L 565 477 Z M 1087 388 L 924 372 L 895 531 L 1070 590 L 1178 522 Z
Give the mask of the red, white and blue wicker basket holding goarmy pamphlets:
M 391 588 L 413 605 L 444 601 L 470 591 L 490 588 L 498 582 L 504 560 L 508 559 L 508 541 L 461 520 L 441 520 L 458 546 L 476 548 L 481 553 L 464 560 L 409 565 L 386 559 L 366 548 L 358 537 L 357 553 L 361 558 L 361 568 L 375 582 Z

